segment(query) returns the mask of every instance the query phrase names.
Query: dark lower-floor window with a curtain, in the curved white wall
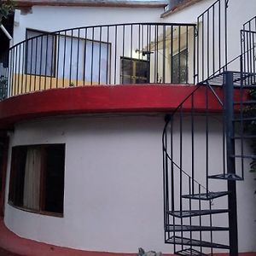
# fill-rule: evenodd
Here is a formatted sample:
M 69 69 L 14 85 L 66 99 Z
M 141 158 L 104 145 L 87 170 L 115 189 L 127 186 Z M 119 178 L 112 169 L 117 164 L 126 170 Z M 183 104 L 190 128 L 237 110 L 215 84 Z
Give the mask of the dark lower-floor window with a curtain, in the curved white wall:
M 9 203 L 27 211 L 62 216 L 65 144 L 12 148 Z

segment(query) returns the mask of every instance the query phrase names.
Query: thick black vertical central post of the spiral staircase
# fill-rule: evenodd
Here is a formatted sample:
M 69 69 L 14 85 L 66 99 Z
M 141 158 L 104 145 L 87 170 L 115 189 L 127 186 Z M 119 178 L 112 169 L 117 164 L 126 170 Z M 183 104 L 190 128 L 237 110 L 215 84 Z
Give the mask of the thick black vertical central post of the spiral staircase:
M 234 141 L 234 105 L 233 105 L 233 73 L 224 73 L 224 114 L 226 122 L 227 143 L 227 172 L 236 174 L 235 141 Z M 237 207 L 236 207 L 236 180 L 228 180 L 229 194 L 229 223 L 230 223 L 230 255 L 238 256 L 237 239 Z

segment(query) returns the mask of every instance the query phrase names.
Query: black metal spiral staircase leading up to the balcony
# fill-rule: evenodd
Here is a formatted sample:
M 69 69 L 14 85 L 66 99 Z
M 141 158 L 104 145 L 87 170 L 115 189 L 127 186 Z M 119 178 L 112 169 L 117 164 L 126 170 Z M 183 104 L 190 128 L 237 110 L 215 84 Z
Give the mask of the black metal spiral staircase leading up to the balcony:
M 256 159 L 245 146 L 256 138 L 245 133 L 247 124 L 256 122 L 256 113 L 248 117 L 245 111 L 255 105 L 247 98 L 248 90 L 256 90 L 256 31 L 246 26 L 241 30 L 241 55 L 233 60 L 239 61 L 240 71 L 228 71 L 226 61 L 166 115 L 162 137 L 165 241 L 173 244 L 177 255 L 212 255 L 219 249 L 238 255 L 236 182 L 244 179 L 248 160 Z

